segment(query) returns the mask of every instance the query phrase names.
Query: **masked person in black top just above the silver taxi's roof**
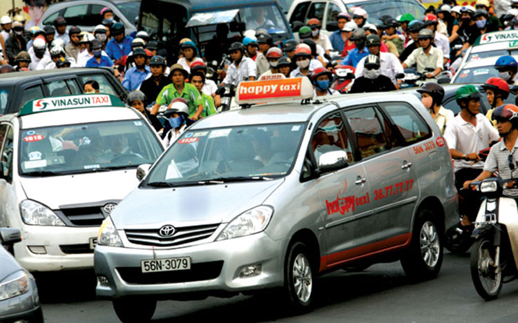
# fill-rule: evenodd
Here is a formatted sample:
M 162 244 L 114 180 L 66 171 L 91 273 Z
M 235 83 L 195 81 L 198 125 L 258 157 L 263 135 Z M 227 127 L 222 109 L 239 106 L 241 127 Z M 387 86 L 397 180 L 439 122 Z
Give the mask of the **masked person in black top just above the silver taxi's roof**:
M 349 93 L 385 92 L 396 90 L 396 87 L 385 75 L 381 75 L 380 61 L 376 55 L 365 57 L 363 75 L 354 80 Z

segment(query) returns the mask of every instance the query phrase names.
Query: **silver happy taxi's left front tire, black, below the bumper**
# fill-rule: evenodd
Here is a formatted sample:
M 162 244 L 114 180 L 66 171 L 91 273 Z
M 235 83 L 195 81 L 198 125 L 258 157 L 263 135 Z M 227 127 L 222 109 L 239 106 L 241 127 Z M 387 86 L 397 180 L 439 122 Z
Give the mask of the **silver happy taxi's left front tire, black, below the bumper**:
M 115 314 L 124 323 L 149 322 L 157 301 L 144 297 L 122 297 L 112 300 Z

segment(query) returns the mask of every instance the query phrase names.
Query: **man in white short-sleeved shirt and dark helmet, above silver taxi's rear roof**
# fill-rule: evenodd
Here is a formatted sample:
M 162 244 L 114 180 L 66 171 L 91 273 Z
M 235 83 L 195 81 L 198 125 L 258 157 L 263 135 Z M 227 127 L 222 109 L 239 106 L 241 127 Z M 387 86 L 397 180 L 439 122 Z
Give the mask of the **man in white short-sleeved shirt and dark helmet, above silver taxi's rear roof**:
M 403 62 L 403 68 L 416 65 L 418 73 L 424 74 L 426 68 L 432 68 L 433 72 L 426 72 L 427 79 L 437 77 L 443 70 L 443 52 L 439 48 L 432 46 L 434 35 L 432 30 L 425 28 L 419 31 L 417 36 L 420 48 L 415 49 Z

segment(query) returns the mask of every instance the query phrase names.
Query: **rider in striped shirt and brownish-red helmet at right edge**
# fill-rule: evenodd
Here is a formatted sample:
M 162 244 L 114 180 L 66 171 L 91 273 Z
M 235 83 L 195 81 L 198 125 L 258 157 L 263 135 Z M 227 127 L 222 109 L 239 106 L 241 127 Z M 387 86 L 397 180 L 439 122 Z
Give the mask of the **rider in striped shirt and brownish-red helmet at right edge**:
M 491 147 L 482 173 L 472 180 L 464 182 L 468 188 L 471 182 L 478 182 L 492 176 L 496 170 L 502 179 L 514 178 L 513 173 L 518 168 L 518 106 L 505 104 L 493 111 L 492 119 L 497 121 L 497 128 L 503 140 Z M 518 198 L 518 189 L 504 189 L 503 195 Z

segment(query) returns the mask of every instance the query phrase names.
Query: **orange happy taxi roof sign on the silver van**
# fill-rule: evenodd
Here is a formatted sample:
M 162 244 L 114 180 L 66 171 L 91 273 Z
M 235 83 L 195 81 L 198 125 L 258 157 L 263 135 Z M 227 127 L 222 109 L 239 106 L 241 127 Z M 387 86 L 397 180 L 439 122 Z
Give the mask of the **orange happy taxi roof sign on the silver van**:
M 309 99 L 313 96 L 313 86 L 307 77 L 242 81 L 236 89 L 236 103 L 240 105 Z

